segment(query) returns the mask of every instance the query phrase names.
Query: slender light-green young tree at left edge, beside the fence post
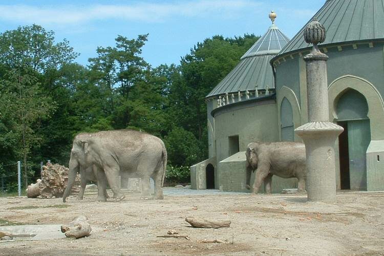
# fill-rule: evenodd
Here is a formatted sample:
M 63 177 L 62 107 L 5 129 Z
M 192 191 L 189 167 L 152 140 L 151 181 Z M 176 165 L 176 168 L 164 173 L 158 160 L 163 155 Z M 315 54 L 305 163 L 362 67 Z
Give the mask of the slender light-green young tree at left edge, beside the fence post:
M 38 147 L 42 138 L 35 130 L 41 121 L 48 119 L 55 110 L 55 102 L 42 93 L 37 79 L 31 75 L 21 76 L 9 72 L 1 81 L 0 122 L 5 130 L 2 133 L 3 151 L 12 147 L 14 155 L 22 158 L 24 177 L 28 185 L 28 157 L 32 148 Z M 10 145 L 10 143 L 14 143 Z

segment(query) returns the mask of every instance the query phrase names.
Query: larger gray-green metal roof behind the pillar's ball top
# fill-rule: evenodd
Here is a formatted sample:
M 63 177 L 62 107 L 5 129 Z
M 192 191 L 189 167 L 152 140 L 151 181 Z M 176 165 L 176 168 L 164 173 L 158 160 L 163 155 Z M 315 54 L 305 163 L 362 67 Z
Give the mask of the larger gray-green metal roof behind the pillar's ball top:
M 384 0 L 327 0 L 313 17 L 327 32 L 322 45 L 384 38 Z M 303 37 L 305 27 L 289 41 L 279 56 L 310 47 Z

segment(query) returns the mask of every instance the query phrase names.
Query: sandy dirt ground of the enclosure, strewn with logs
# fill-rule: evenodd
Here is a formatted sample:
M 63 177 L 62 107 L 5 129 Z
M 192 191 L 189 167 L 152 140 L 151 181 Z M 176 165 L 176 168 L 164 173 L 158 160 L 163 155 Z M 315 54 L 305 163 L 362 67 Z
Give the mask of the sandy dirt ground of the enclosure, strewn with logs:
M 164 191 L 164 200 L 140 200 L 140 194 L 132 193 L 125 194 L 121 202 L 96 202 L 96 195 L 86 195 L 83 201 L 70 197 L 67 207 L 62 206 L 61 198 L 0 198 L 0 225 L 4 221 L 61 225 L 85 215 L 93 229 L 91 236 L 77 240 L 0 242 L 0 255 L 384 253 L 384 192 L 340 192 L 336 203 L 325 204 L 307 202 L 306 195 Z M 187 216 L 230 220 L 231 225 L 193 228 L 184 221 Z M 156 237 L 170 229 L 190 239 Z M 228 242 L 203 243 L 205 239 Z

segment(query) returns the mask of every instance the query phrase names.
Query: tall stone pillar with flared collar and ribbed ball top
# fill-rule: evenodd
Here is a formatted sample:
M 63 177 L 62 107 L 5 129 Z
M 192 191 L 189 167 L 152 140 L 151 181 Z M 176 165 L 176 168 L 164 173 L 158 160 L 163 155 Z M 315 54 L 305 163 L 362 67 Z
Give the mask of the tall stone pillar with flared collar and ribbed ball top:
M 307 68 L 308 123 L 295 129 L 306 147 L 308 201 L 336 200 L 334 146 L 343 127 L 329 122 L 327 59 L 317 44 L 325 40 L 325 29 L 316 20 L 307 25 L 304 38 L 313 44 L 304 57 Z

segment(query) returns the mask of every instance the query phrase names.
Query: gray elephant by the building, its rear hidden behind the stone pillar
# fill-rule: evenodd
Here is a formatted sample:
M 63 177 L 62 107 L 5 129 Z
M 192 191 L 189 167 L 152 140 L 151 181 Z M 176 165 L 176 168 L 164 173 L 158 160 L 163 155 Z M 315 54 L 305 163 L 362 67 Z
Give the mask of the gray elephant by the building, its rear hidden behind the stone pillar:
M 271 193 L 272 176 L 297 178 L 298 191 L 305 191 L 307 179 L 305 145 L 298 142 L 252 142 L 247 146 L 246 187 L 250 189 L 251 173 L 256 170 L 252 193 L 258 194 L 264 181 L 265 191 Z

